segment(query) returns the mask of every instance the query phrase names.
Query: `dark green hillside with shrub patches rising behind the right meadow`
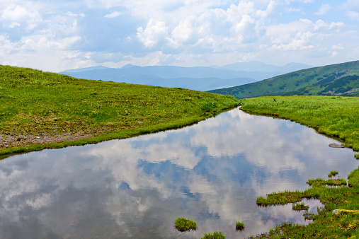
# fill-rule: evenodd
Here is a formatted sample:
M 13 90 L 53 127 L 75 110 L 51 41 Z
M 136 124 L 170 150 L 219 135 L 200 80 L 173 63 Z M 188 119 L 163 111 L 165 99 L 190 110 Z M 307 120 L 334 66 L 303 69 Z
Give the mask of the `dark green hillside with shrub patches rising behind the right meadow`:
M 359 61 L 314 67 L 210 93 L 253 98 L 266 95 L 359 96 Z

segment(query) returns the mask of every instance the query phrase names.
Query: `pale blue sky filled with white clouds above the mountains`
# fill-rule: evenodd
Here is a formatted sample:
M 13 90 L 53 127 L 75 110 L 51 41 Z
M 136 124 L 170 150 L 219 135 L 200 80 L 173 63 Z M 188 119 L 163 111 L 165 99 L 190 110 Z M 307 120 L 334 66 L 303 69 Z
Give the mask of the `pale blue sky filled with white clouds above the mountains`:
M 59 72 L 358 59 L 358 0 L 0 0 L 3 65 Z

